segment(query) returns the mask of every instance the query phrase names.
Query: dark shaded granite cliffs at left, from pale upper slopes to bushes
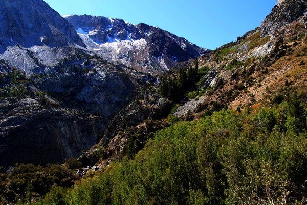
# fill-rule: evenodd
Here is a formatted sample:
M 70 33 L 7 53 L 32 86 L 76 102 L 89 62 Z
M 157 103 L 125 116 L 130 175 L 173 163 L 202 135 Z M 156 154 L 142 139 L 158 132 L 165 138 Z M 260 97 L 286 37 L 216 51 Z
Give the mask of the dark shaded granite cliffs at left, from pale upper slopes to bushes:
M 145 82 L 131 70 L 127 75 L 125 68 L 87 60 L 62 63 L 31 79 L 0 62 L 0 166 L 78 157 Z

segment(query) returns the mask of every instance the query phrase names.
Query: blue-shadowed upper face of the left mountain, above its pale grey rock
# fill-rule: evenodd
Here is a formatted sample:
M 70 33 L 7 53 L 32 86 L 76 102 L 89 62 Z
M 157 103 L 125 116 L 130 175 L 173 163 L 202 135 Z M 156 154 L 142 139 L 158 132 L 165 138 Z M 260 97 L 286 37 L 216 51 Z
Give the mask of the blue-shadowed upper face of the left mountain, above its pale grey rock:
M 74 27 L 42 0 L 1 0 L 0 39 L 25 47 L 85 46 Z

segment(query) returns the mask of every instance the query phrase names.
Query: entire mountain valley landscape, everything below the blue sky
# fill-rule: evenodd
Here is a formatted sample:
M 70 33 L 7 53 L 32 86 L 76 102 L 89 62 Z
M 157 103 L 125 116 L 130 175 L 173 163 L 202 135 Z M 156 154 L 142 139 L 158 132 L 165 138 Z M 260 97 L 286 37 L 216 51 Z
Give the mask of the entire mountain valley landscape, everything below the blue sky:
M 306 1 L 213 51 L 0 5 L 1 203 L 306 204 Z

